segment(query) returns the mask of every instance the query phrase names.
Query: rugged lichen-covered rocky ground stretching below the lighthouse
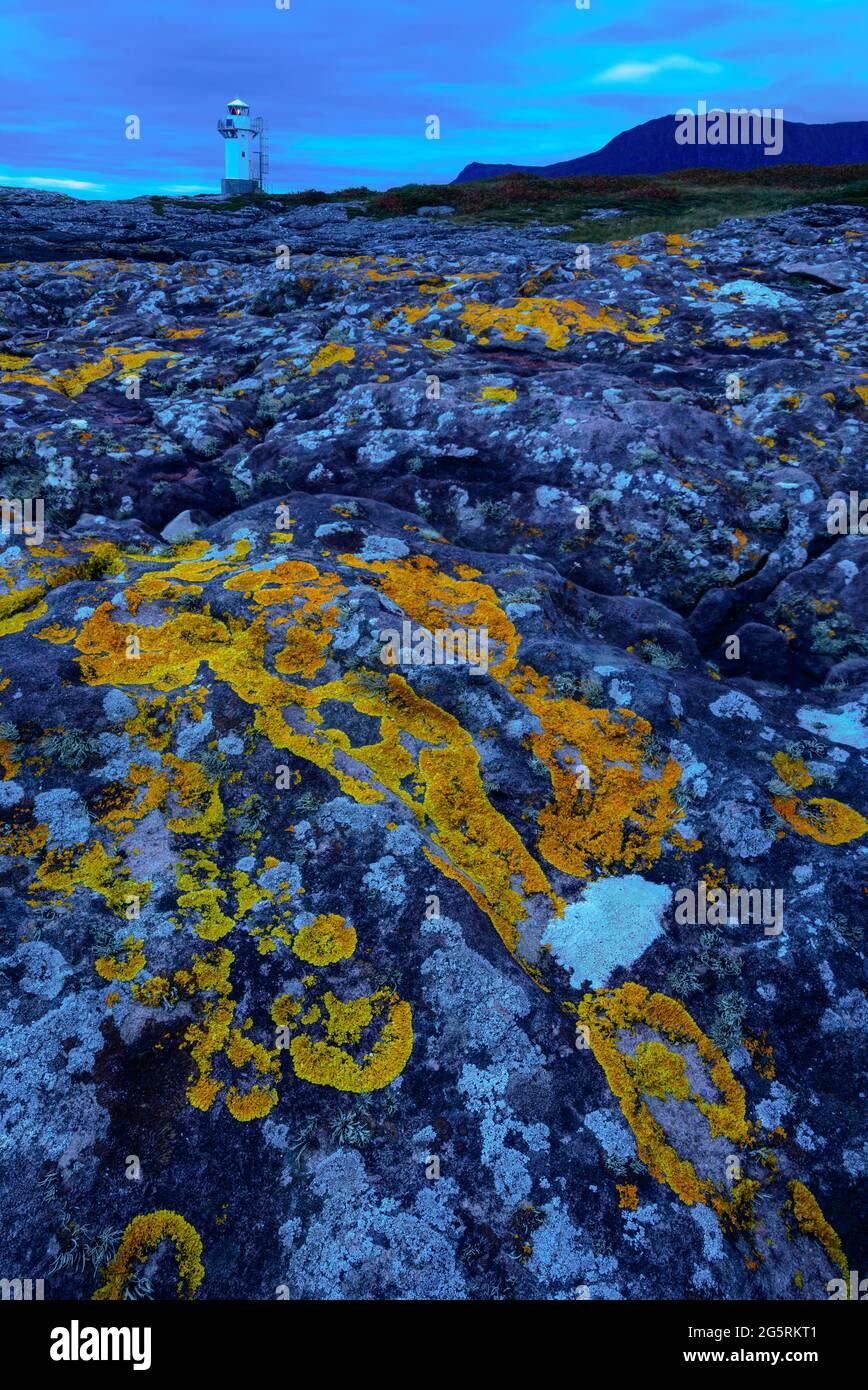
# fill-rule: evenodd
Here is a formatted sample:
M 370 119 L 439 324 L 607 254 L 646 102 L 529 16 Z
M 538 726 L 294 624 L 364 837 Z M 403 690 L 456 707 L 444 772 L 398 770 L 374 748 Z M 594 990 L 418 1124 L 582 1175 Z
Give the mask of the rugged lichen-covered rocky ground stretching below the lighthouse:
M 0 1276 L 826 1298 L 868 214 L 357 213 L 0 190 Z

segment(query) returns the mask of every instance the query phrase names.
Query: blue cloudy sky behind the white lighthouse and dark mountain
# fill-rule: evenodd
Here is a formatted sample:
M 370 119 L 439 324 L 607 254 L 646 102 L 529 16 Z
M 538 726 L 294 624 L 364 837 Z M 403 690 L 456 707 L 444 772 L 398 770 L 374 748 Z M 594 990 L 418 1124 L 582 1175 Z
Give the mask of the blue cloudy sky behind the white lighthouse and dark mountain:
M 0 0 L 0 183 L 216 192 L 234 96 L 275 190 L 545 164 L 700 99 L 862 120 L 867 50 L 865 0 Z

